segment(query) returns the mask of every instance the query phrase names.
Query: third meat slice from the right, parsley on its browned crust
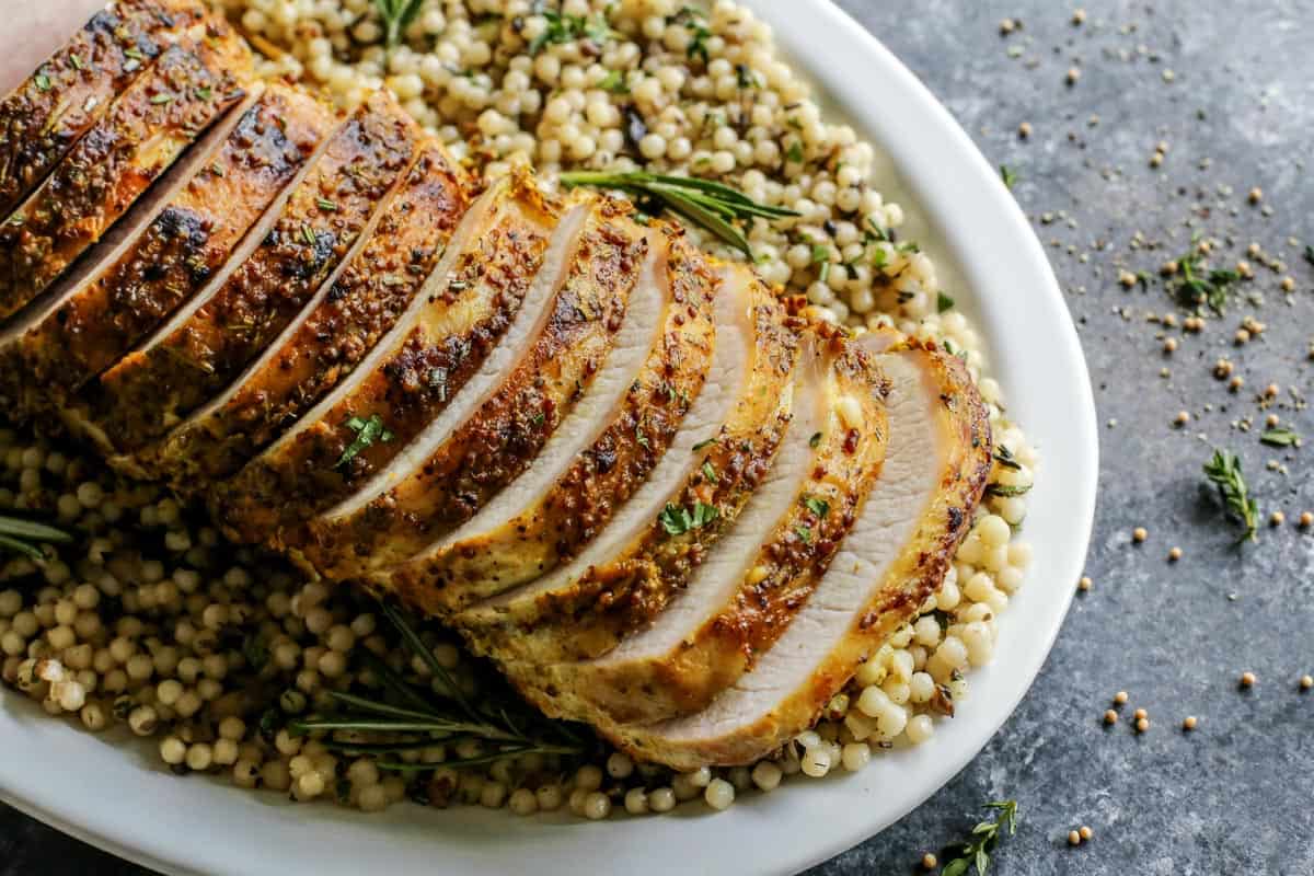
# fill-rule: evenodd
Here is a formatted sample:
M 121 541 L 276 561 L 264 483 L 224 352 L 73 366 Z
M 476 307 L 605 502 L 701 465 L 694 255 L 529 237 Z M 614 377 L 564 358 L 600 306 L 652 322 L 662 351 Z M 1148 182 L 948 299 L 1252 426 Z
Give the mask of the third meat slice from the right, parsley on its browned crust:
M 645 625 L 770 469 L 795 402 L 798 336 L 748 269 L 728 269 L 714 313 L 707 385 L 644 485 L 573 561 L 455 616 L 472 646 L 514 679 L 598 657 Z

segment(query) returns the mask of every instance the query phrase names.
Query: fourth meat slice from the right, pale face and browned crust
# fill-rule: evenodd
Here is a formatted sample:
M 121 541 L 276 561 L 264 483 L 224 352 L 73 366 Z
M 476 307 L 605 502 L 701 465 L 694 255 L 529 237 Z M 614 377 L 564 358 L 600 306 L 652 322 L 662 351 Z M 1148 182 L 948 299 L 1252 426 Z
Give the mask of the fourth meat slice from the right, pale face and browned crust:
M 707 260 L 674 225 L 656 226 L 606 372 L 530 469 L 456 531 L 376 573 L 449 613 L 579 552 L 658 464 L 702 391 L 715 344 Z

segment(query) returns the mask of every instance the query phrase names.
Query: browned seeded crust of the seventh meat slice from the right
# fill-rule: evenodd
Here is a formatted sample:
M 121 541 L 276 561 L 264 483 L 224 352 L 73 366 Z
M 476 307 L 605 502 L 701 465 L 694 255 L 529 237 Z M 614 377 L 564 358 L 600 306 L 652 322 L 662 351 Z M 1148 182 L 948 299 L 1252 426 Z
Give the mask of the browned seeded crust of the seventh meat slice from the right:
M 223 478 L 276 439 L 393 327 L 468 204 L 465 175 L 442 144 L 427 143 L 315 310 L 231 398 L 171 435 L 155 453 L 155 470 L 180 485 Z

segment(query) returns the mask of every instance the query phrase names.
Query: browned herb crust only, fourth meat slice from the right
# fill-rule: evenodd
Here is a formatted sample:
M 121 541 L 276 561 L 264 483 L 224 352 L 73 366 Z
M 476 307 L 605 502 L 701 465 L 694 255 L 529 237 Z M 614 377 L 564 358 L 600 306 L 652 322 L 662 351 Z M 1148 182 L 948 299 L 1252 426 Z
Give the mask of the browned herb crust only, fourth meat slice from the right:
M 716 278 L 678 226 L 664 225 L 669 298 L 657 345 L 610 426 L 530 510 L 495 531 L 380 573 L 431 613 L 451 613 L 555 569 L 637 490 L 702 391 L 715 343 Z

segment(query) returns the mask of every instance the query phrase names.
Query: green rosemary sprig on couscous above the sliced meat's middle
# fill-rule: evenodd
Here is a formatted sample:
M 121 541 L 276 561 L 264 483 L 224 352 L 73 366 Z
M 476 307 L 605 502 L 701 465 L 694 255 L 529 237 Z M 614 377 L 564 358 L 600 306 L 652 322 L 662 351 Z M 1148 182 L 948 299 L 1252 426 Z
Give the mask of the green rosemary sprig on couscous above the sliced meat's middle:
M 591 185 L 620 189 L 640 198 L 656 201 L 671 213 L 707 229 L 749 259 L 753 257 L 753 250 L 749 247 L 748 238 L 735 225 L 736 221 L 783 219 L 799 215 L 794 210 L 758 204 L 742 192 L 721 183 L 696 177 L 666 176 L 645 171 L 629 173 L 569 171 L 561 175 L 561 184 L 569 188 Z

